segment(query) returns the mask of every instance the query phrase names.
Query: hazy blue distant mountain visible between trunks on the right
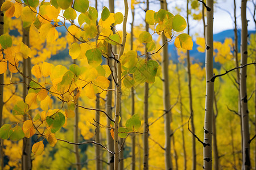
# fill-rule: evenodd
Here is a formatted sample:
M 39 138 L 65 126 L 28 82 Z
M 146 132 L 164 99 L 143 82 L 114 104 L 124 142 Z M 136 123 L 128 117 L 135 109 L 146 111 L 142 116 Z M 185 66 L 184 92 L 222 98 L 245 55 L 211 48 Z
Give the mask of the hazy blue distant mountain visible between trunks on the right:
M 256 31 L 248 31 L 249 36 L 251 33 L 256 33 Z M 228 29 L 228 30 L 225 30 L 225 31 L 222 31 L 220 33 L 216 33 L 213 35 L 213 41 L 220 41 L 223 43 L 226 38 L 232 38 L 234 40 L 234 30 L 233 29 Z M 240 44 L 241 44 L 241 29 L 238 30 L 238 52 L 240 52 Z M 197 51 L 198 46 L 199 45 L 197 45 L 196 42 L 193 41 L 193 50 L 190 51 L 190 56 L 194 58 L 195 62 L 205 63 L 205 53 L 198 52 Z M 174 61 L 174 62 L 179 62 L 178 61 L 179 56 L 177 56 L 176 47 L 174 46 L 174 44 L 169 44 L 168 49 L 171 54 L 170 59 L 172 59 L 172 61 Z

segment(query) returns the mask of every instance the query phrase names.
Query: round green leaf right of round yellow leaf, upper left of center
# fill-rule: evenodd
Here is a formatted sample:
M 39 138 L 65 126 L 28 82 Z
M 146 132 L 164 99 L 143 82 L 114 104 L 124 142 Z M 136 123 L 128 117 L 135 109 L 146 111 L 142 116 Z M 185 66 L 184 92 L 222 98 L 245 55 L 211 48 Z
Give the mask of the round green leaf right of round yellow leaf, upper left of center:
M 102 62 L 101 51 L 97 48 L 87 50 L 85 56 L 88 59 L 89 65 L 98 66 Z

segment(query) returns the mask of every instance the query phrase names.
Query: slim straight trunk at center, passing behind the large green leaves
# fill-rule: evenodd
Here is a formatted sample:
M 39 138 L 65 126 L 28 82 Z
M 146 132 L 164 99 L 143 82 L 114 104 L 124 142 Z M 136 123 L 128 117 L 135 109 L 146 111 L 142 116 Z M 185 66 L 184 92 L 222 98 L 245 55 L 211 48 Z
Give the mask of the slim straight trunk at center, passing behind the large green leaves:
M 149 1 L 147 0 L 146 2 L 146 12 L 148 11 L 149 8 Z M 146 32 L 148 32 L 148 23 L 146 22 L 145 19 L 145 23 L 146 23 Z M 145 48 L 146 50 L 146 61 L 148 59 L 148 53 L 147 53 L 147 48 Z M 144 132 L 147 131 L 147 133 L 143 134 L 143 169 L 147 170 L 148 169 L 148 156 L 149 156 L 149 151 L 148 151 L 148 83 L 145 82 L 144 84 Z

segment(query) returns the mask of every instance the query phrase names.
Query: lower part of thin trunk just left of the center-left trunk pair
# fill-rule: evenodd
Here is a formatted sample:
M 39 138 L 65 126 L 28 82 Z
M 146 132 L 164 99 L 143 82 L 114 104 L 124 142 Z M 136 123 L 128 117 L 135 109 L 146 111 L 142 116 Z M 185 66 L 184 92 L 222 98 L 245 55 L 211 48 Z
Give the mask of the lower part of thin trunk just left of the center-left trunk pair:
M 100 94 L 96 94 L 96 109 L 100 110 Z M 95 142 L 100 143 L 100 112 L 96 111 L 96 129 L 95 129 Z M 101 153 L 100 146 L 95 146 L 95 157 L 96 157 L 96 170 L 102 169 L 101 167 Z

